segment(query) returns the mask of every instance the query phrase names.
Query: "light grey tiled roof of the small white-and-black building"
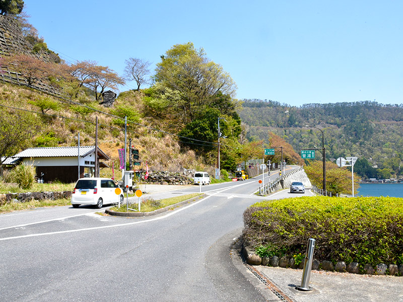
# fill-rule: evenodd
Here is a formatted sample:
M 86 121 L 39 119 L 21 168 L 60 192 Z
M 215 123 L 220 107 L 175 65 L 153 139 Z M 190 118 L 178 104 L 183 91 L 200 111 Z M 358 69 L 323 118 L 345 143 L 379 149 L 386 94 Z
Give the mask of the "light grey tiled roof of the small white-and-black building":
M 80 146 L 80 156 L 95 150 L 95 146 Z M 74 157 L 78 156 L 78 147 L 41 147 L 28 148 L 16 154 L 14 157 L 35 158 L 35 157 Z

